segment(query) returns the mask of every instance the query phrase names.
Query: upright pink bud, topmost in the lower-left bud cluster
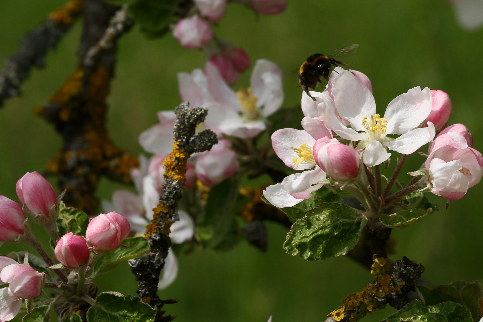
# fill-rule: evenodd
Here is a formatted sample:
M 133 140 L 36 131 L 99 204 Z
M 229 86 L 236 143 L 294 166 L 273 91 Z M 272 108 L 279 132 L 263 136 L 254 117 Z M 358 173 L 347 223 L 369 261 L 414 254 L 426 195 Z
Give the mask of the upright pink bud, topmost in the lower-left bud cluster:
M 57 204 L 54 188 L 37 171 L 27 172 L 20 178 L 16 190 L 20 203 L 36 216 L 49 217 L 50 209 Z

